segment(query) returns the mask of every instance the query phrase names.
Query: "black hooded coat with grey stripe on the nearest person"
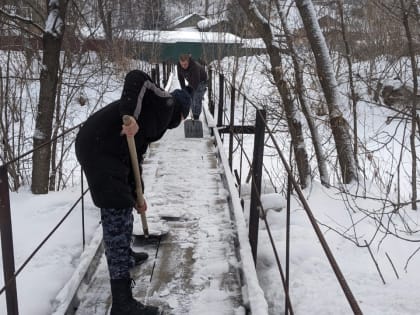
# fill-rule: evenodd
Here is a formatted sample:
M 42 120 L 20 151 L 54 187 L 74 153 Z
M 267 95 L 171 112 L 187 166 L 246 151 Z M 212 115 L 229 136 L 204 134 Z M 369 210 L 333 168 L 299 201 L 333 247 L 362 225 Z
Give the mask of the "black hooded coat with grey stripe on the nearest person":
M 180 112 L 176 108 L 171 94 L 157 88 L 146 73 L 134 70 L 126 76 L 121 99 L 97 111 L 83 124 L 76 138 L 76 155 L 97 207 L 120 209 L 135 204 L 127 140 L 121 135 L 123 115 L 138 115 L 139 131 L 134 138 L 141 159 L 149 143 L 179 124 Z

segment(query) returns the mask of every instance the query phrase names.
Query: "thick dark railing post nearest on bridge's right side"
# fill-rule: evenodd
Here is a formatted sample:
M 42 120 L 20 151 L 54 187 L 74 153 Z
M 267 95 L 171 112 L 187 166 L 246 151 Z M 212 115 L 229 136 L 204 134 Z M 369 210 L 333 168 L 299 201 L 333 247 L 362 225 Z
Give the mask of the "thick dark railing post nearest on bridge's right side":
M 261 196 L 262 165 L 264 158 L 265 110 L 258 109 L 255 122 L 254 153 L 252 159 L 251 205 L 249 212 L 249 242 L 252 257 L 257 264 L 258 224 Z

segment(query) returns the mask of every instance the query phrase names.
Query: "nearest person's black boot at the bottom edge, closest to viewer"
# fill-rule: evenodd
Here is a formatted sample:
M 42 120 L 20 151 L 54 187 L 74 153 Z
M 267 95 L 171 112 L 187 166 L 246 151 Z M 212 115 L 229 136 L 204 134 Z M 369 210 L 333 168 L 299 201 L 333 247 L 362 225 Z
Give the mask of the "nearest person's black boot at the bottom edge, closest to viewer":
M 133 298 L 131 279 L 111 280 L 111 315 L 159 315 L 159 308 L 143 305 Z

